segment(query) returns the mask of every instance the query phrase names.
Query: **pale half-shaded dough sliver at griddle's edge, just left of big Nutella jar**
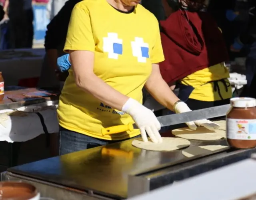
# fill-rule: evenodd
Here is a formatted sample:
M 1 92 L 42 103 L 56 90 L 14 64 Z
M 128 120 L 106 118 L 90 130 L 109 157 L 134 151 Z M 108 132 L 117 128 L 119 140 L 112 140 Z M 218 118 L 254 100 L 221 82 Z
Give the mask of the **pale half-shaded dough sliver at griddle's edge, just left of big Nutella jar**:
M 227 148 L 228 146 L 223 145 L 207 145 L 207 146 L 190 146 L 182 151 L 182 154 L 188 158 L 198 155 L 205 155 L 216 150 Z

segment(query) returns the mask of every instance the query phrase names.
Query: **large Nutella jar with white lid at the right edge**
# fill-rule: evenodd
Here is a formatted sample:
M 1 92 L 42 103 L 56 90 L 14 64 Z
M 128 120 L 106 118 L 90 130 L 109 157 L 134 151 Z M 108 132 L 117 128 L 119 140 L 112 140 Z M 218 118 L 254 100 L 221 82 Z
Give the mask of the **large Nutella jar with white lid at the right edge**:
M 231 98 L 226 116 L 226 137 L 234 148 L 256 147 L 256 99 Z

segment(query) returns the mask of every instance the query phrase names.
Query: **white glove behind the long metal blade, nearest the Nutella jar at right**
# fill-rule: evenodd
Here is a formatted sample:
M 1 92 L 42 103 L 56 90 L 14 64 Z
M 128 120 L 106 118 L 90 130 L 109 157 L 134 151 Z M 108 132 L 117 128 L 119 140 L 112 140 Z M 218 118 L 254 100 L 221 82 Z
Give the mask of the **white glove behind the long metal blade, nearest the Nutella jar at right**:
M 178 113 L 183 113 L 183 112 L 190 112 L 192 110 L 190 110 L 190 108 L 188 108 L 188 105 L 184 102 L 178 102 L 178 104 L 176 104 L 175 106 L 175 112 Z M 186 122 L 186 124 L 188 125 L 188 127 L 192 130 L 196 130 L 197 126 L 204 126 L 205 128 L 209 129 L 209 130 L 215 130 L 218 129 L 220 127 L 220 125 L 211 122 L 210 120 L 197 120 L 194 122 Z

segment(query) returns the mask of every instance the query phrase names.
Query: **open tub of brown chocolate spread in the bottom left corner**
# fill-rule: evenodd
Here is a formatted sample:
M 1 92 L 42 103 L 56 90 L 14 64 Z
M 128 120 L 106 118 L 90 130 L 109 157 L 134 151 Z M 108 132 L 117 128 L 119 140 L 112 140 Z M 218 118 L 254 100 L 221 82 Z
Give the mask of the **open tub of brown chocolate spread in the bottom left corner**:
M 0 200 L 40 200 L 40 193 L 28 183 L 0 182 Z

